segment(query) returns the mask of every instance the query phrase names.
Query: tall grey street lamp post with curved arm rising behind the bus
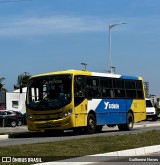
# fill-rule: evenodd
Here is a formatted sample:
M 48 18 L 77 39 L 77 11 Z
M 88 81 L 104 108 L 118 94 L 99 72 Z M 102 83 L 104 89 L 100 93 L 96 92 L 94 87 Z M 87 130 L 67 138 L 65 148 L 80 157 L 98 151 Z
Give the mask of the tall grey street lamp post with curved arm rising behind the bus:
M 115 67 L 112 66 L 112 47 L 111 47 L 111 29 L 117 25 L 127 24 L 125 22 L 120 24 L 109 25 L 109 57 L 110 57 L 110 73 L 115 73 Z

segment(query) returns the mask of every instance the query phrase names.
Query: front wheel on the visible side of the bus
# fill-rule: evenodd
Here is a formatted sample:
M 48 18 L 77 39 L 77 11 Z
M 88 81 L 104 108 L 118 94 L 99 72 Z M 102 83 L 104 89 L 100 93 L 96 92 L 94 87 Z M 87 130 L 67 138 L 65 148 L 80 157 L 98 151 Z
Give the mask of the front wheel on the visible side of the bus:
M 96 132 L 96 119 L 93 114 L 89 114 L 87 118 L 87 133 L 94 134 Z

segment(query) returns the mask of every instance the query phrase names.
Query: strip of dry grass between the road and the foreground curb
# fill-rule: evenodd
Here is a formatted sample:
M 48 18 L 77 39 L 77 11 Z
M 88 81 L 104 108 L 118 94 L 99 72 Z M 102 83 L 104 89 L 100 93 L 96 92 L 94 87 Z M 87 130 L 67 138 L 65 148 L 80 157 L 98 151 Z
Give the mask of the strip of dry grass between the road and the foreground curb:
M 50 161 L 55 161 L 71 157 L 159 145 L 159 137 L 160 131 L 153 130 L 135 134 L 131 132 L 131 134 L 128 135 L 101 136 L 58 142 L 7 146 L 0 147 L 0 156 L 49 157 Z

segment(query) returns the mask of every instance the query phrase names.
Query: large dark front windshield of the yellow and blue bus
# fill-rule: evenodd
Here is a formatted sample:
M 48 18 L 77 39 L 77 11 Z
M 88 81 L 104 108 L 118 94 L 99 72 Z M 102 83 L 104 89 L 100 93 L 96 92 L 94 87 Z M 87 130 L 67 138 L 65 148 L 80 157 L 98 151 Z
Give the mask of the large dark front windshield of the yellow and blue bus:
M 30 79 L 26 106 L 37 110 L 58 109 L 71 102 L 71 75 L 41 76 Z

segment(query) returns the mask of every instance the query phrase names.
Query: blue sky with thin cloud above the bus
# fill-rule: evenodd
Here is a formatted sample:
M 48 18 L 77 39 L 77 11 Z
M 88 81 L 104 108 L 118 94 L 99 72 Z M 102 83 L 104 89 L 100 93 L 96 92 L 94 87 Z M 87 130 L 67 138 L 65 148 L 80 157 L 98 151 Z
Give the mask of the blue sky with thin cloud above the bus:
M 126 24 L 122 24 L 122 23 Z M 142 76 L 160 95 L 160 0 L 0 0 L 0 77 L 66 69 Z

